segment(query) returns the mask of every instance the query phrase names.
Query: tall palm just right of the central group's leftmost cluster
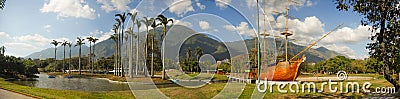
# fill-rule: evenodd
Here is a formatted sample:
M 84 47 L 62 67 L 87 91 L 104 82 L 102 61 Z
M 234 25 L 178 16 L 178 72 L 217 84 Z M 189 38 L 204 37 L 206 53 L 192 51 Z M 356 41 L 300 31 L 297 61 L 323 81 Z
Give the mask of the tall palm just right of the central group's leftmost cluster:
M 131 16 L 131 21 L 132 21 L 132 28 L 131 28 L 131 33 L 130 33 L 130 37 L 131 37 L 131 43 L 129 44 L 129 54 L 128 54 L 128 57 L 129 57 L 129 76 L 132 78 L 132 76 L 133 76 L 133 73 L 132 73 L 132 62 L 133 62 L 133 57 L 132 57 L 132 54 L 133 54 L 133 28 L 135 27 L 134 26 L 134 24 L 135 24 L 135 18 L 136 18 L 136 15 L 137 15 L 137 12 L 135 12 L 135 13 L 128 13 L 128 15 L 129 16 Z

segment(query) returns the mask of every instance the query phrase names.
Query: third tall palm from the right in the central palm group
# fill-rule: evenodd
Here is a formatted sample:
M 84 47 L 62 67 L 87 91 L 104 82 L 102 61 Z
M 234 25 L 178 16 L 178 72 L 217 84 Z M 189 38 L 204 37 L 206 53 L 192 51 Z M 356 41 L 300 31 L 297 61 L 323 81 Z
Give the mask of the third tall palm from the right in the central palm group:
M 143 17 L 143 19 L 144 20 L 142 20 L 142 22 L 144 23 L 144 25 L 146 26 L 146 34 L 148 34 L 149 33 L 149 26 L 151 26 L 151 24 L 153 24 L 153 21 L 154 21 L 154 18 L 147 18 L 147 17 Z M 145 66 L 145 68 L 144 69 L 146 69 L 145 71 L 144 71 L 144 75 L 145 76 L 147 76 L 147 35 L 145 35 L 145 45 L 144 45 L 145 47 L 145 61 L 144 61 L 144 66 Z M 151 67 L 151 71 L 153 71 L 153 67 Z M 150 72 L 151 73 L 151 72 Z M 150 75 L 153 75 L 153 74 L 150 74 Z

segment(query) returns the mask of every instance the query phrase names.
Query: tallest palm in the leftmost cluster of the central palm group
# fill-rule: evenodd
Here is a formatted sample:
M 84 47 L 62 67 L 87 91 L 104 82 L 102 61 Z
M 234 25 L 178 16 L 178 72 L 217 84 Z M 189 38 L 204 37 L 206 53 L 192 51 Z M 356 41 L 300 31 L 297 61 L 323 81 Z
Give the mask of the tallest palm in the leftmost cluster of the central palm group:
M 123 13 L 123 14 L 115 14 L 115 17 L 117 17 L 120 21 L 121 21 L 121 46 L 120 46 L 120 52 L 122 51 L 121 50 L 121 47 L 122 47 L 122 45 L 124 44 L 124 40 L 123 40 L 123 37 L 124 37 L 124 28 L 125 28 L 125 20 L 126 20 L 126 13 Z M 121 54 L 121 53 L 120 53 Z M 120 62 L 121 62 L 121 76 L 122 77 L 125 77 L 125 74 L 124 74 L 124 65 L 123 65 L 123 62 L 122 62 L 122 54 L 121 54 L 121 56 L 120 56 Z

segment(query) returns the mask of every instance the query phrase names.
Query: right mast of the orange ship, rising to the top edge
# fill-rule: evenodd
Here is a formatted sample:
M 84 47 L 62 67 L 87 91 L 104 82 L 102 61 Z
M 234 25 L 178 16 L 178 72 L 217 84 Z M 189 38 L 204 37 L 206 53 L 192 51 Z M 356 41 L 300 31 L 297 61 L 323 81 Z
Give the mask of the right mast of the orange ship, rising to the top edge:
M 281 32 L 281 35 L 285 36 L 285 61 L 288 61 L 288 37 L 293 35 L 292 33 L 289 32 L 289 3 L 290 0 L 288 0 L 287 4 L 286 4 L 286 27 L 285 27 L 285 31 Z

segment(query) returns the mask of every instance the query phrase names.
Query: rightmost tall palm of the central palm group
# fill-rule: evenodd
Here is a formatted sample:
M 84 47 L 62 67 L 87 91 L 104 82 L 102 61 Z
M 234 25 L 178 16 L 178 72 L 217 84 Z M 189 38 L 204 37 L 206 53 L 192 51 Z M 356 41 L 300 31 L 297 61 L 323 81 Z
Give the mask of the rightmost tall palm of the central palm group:
M 166 36 L 166 34 L 167 34 L 167 24 L 169 23 L 169 21 L 174 23 L 174 20 L 168 19 L 164 15 L 158 15 L 157 20 L 159 20 L 161 22 L 161 24 L 164 26 L 164 29 L 163 29 L 164 33 L 161 35 L 161 41 L 164 41 L 164 36 Z M 165 61 L 164 50 L 165 50 L 165 46 L 162 46 L 162 53 L 161 53 L 162 61 Z M 165 79 L 165 65 L 164 65 L 164 62 L 162 62 L 162 63 L 163 63 L 162 79 Z

